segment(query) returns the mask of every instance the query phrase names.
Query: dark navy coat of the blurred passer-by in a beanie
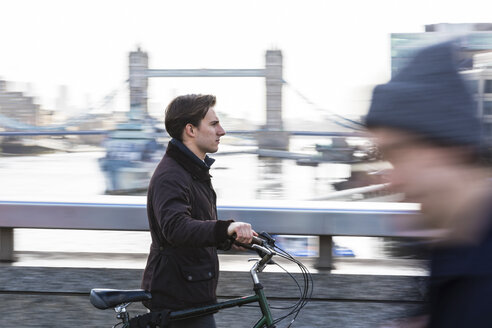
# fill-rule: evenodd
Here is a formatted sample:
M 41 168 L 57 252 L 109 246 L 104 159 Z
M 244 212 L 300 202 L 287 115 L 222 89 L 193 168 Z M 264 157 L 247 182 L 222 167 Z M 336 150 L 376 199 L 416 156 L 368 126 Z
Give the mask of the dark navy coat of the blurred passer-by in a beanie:
M 432 254 L 429 328 L 492 327 L 492 207 L 486 206 L 483 239 Z

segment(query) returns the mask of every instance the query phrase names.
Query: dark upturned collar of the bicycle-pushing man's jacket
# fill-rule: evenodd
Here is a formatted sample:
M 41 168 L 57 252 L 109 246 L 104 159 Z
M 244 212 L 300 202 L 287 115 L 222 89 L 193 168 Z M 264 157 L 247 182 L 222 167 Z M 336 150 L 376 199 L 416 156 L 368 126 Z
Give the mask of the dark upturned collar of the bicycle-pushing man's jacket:
M 181 141 L 174 138 L 169 142 L 166 154 L 176 160 L 193 178 L 210 180 L 209 170 L 215 159 L 205 156 L 205 160 L 202 161 Z

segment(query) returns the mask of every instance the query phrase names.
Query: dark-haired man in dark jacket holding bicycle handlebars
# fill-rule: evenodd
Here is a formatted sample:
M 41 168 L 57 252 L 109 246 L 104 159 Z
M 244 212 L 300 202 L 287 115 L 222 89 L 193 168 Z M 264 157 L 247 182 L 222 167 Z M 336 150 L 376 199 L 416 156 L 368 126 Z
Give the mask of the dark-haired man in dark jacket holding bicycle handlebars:
M 152 245 L 142 288 L 152 292 L 151 311 L 179 310 L 216 302 L 217 248 L 229 238 L 251 242 L 247 223 L 217 220 L 216 194 L 207 153 L 218 150 L 225 131 L 214 111 L 215 96 L 186 95 L 167 107 L 165 125 L 173 138 L 150 181 L 147 197 Z M 171 327 L 215 327 L 213 315 Z

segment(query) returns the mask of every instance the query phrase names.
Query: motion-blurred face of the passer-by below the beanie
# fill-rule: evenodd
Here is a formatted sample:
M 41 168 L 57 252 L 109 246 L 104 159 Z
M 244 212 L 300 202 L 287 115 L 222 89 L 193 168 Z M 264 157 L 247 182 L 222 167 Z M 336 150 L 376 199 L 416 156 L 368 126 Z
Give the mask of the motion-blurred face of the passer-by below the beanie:
M 450 187 L 459 183 L 463 153 L 423 142 L 404 131 L 377 128 L 371 132 L 383 157 L 393 165 L 391 187 L 403 192 L 406 201 L 421 203 L 422 210 L 438 210 Z

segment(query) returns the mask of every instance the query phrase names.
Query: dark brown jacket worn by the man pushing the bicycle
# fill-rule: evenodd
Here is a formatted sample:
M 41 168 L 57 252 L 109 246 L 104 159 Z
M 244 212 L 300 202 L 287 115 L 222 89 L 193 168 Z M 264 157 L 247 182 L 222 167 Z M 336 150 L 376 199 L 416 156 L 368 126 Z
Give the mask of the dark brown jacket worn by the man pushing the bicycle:
M 216 302 L 217 247 L 227 247 L 230 221 L 217 220 L 209 165 L 171 140 L 149 184 L 147 215 L 152 245 L 142 288 L 151 310 L 184 309 Z

